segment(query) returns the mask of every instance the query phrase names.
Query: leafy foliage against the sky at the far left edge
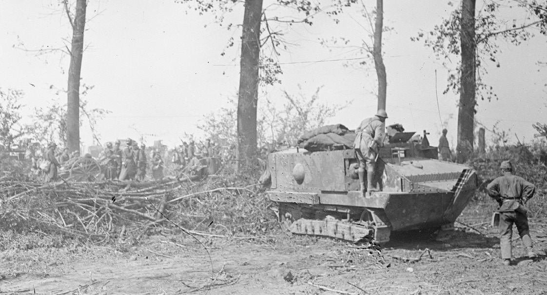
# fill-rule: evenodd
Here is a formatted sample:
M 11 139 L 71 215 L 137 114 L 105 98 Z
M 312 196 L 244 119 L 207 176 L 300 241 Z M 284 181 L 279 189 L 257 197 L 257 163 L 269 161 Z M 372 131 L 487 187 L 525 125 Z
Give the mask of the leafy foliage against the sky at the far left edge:
M 0 88 L 0 145 L 9 150 L 15 139 L 25 134 L 20 124 L 20 103 L 24 93 L 20 90 Z

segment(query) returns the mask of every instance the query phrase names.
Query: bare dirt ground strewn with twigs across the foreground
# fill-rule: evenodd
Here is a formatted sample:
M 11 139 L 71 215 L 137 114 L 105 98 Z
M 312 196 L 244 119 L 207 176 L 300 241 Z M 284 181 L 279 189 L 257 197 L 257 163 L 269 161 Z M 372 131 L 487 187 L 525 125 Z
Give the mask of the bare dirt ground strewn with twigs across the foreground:
M 515 240 L 514 265 L 505 267 L 490 216 L 475 206 L 458 219 L 475 229 L 456 223 L 437 239 L 392 234 L 381 251 L 281 231 L 197 236 L 208 252 L 169 231 L 138 246 L 5 250 L 0 294 L 547 294 L 542 222 L 531 223 L 540 257 L 524 257 Z

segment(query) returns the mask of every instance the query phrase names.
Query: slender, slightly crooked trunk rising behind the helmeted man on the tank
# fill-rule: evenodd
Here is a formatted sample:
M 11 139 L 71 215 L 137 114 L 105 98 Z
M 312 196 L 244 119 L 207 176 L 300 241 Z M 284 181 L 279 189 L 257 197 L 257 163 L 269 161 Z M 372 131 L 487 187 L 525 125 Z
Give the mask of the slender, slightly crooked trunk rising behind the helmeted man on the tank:
M 383 0 L 376 0 L 376 22 L 374 30 L 374 66 L 378 76 L 378 109 L 386 109 L 387 76 L 382 58 Z

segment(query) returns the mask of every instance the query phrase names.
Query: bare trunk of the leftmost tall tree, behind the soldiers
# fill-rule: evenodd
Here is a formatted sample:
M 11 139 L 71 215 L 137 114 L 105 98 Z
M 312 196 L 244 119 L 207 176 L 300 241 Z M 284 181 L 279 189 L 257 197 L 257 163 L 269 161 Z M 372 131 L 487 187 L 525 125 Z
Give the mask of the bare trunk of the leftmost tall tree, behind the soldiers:
M 67 5 L 65 3 L 65 5 Z M 72 25 L 72 48 L 68 69 L 67 146 L 69 151 L 80 151 L 80 72 L 84 51 L 86 0 L 76 1 L 74 19 L 67 15 Z

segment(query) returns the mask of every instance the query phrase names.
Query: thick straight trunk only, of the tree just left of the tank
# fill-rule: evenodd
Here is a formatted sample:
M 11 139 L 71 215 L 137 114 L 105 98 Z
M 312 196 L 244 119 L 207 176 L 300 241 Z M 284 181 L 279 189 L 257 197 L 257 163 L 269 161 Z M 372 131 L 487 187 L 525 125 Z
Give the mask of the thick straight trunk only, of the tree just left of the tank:
M 260 21 L 263 0 L 245 0 L 237 101 L 238 170 L 257 168 L 257 103 L 260 63 Z

